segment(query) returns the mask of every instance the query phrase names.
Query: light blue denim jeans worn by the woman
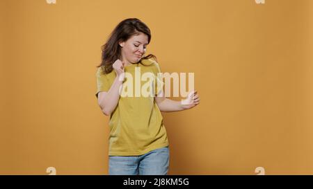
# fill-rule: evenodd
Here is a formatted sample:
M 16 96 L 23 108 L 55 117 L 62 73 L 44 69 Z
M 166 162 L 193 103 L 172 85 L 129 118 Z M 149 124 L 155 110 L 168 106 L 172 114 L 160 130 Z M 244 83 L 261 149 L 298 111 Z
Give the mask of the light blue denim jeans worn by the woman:
M 166 175 L 169 149 L 161 147 L 141 156 L 109 156 L 110 175 Z

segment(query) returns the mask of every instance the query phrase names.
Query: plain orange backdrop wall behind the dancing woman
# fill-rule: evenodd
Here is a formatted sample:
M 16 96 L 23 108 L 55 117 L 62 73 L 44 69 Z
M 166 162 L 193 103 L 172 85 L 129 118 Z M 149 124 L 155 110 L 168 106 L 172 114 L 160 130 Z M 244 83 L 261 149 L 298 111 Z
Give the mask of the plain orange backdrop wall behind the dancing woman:
M 313 174 L 313 1 L 0 2 L 0 174 L 108 174 L 95 71 L 130 17 L 195 73 L 200 105 L 163 114 L 169 174 Z

